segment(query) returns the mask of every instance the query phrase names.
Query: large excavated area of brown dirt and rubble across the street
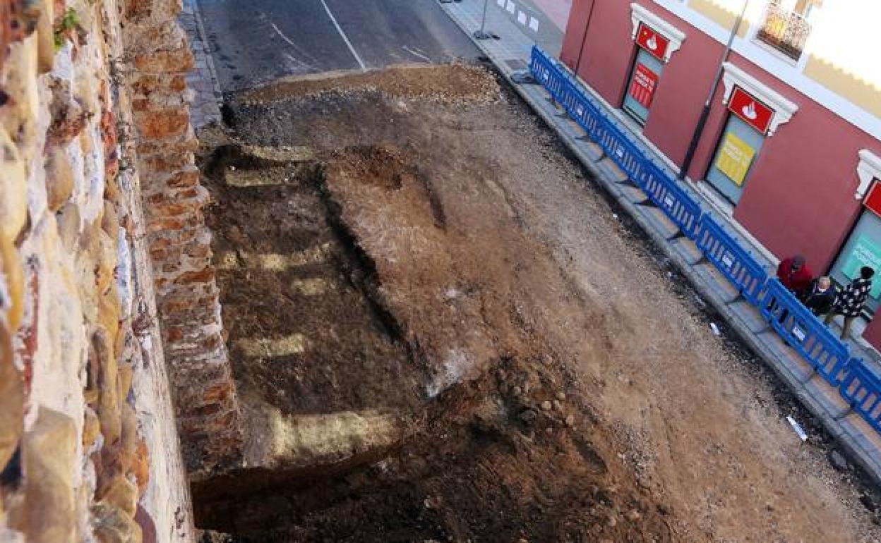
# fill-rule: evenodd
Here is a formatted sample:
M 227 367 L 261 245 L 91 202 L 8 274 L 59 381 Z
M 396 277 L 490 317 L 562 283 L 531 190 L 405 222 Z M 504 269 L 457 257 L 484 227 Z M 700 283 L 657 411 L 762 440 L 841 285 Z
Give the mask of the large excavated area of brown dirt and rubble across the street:
M 419 79 L 495 88 L 447 70 L 462 68 Z M 233 101 L 234 139 L 317 158 L 206 162 L 243 402 L 294 425 L 389 414 L 401 432 L 384 458 L 355 446 L 248 495 L 197 485 L 198 525 L 249 541 L 881 540 L 822 439 L 788 428 L 801 412 L 518 100 L 419 99 L 408 73 Z M 233 186 L 241 169 L 273 184 Z

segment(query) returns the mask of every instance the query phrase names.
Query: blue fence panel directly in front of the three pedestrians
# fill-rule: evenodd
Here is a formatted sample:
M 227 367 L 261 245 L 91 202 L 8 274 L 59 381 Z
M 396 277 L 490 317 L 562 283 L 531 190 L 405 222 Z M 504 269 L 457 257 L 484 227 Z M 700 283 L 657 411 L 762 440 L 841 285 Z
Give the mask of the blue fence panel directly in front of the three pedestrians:
M 766 284 L 762 316 L 830 385 L 848 377 L 850 352 L 776 277 Z

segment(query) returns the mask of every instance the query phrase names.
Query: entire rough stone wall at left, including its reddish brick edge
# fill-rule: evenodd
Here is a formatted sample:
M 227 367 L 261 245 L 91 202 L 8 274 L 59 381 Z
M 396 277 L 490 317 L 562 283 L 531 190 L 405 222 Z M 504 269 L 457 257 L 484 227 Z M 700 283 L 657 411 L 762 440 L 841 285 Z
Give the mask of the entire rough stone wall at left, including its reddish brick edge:
M 180 9 L 0 2 L 0 541 L 190 541 L 239 458 Z

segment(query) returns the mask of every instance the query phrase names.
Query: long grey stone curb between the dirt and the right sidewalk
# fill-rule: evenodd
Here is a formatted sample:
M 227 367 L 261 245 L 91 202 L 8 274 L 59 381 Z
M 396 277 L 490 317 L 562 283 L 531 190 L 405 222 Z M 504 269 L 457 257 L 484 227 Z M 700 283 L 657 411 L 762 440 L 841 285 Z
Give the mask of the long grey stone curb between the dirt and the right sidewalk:
M 541 102 L 538 101 L 539 99 L 527 92 L 527 90 L 523 88 L 524 85 L 516 84 L 511 79 L 510 70 L 507 70 L 504 61 L 497 58 L 496 55 L 493 55 L 491 51 L 484 47 L 484 44 L 480 40 L 472 38 L 469 29 L 464 27 L 458 18 L 455 18 L 448 9 L 443 7 L 442 9 L 447 13 L 447 16 L 453 20 L 455 25 L 469 37 L 478 49 L 480 49 L 484 55 L 492 61 L 492 64 L 500 71 L 502 76 L 505 77 L 505 80 L 511 88 L 513 88 L 529 105 L 532 111 L 544 121 L 548 128 L 551 128 L 552 131 L 556 133 L 559 140 L 566 145 L 566 149 L 570 150 L 575 158 L 578 158 L 581 165 L 588 169 L 591 175 L 594 176 L 594 179 L 603 186 L 606 192 L 610 194 L 616 202 L 618 202 L 618 205 L 625 209 L 627 214 L 640 225 L 640 228 L 648 234 L 652 243 L 660 248 L 670 261 L 676 264 L 676 267 L 685 276 L 692 288 L 700 294 L 700 297 L 719 312 L 722 318 L 725 319 L 731 329 L 737 334 L 737 337 L 744 341 L 744 343 L 755 354 L 757 354 L 766 365 L 771 368 L 771 370 L 774 371 L 777 378 L 780 378 L 787 385 L 789 391 L 796 396 L 796 399 L 801 402 L 803 407 L 805 407 L 811 415 L 819 420 L 826 431 L 828 431 L 834 438 L 835 442 L 839 444 L 841 449 L 847 454 L 848 458 L 860 466 L 870 479 L 877 486 L 881 487 L 881 463 L 879 463 L 877 459 L 873 459 L 870 451 L 866 451 L 861 444 L 857 443 L 857 441 L 850 436 L 849 432 L 840 425 L 834 416 L 830 414 L 810 392 L 804 389 L 803 384 L 795 375 L 788 371 L 785 364 L 781 363 L 777 359 L 777 356 L 774 356 L 774 353 L 768 348 L 768 346 L 759 341 L 756 334 L 751 332 L 750 327 L 732 312 L 729 306 L 726 305 L 710 286 L 704 282 L 700 275 L 694 270 L 692 264 L 685 260 L 685 257 L 670 245 L 667 238 L 664 238 L 661 232 L 655 229 L 655 227 L 649 222 L 648 217 L 640 212 L 636 204 L 627 199 L 626 195 L 620 190 L 618 182 L 611 180 L 609 173 L 603 172 L 601 169 L 600 162 L 602 162 L 603 159 L 601 158 L 597 161 L 593 160 L 589 157 L 587 150 L 581 148 L 581 146 L 571 138 L 567 137 L 557 126 L 553 115 L 542 107 Z M 541 85 L 539 84 L 537 86 L 540 87 Z M 568 115 L 566 115 L 566 118 L 568 118 Z

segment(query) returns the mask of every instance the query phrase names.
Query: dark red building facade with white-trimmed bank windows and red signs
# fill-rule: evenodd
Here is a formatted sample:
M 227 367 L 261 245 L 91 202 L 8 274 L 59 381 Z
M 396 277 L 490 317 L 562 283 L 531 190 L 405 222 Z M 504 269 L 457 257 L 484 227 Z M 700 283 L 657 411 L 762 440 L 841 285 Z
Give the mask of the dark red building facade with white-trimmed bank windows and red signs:
M 676 171 L 735 23 L 708 3 L 575 0 L 560 54 Z M 855 262 L 881 265 L 881 216 L 865 205 L 881 178 L 881 120 L 811 78 L 816 55 L 770 47 L 767 9 L 738 29 L 687 176 L 767 253 L 801 253 L 846 283 Z M 863 337 L 881 347 L 881 319 Z

